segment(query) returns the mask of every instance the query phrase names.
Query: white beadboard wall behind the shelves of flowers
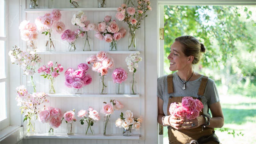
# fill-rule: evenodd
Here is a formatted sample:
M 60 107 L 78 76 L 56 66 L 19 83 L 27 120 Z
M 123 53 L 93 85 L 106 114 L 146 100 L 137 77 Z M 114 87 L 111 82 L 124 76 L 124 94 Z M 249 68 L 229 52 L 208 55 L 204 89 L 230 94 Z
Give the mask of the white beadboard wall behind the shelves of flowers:
M 123 3 L 123 0 L 107 0 L 107 7 L 119 7 L 120 4 Z M 29 0 L 25 3 L 22 3 L 23 7 L 28 8 Z M 25 4 L 25 5 L 24 5 Z M 54 0 L 54 4 L 56 8 L 69 8 L 70 3 L 69 0 Z M 39 0 L 39 8 L 48 8 L 48 0 Z M 81 0 L 81 7 L 80 8 L 96 8 L 97 7 L 97 0 Z M 104 20 L 106 15 L 111 15 L 112 20 L 116 20 L 115 15 L 116 11 L 96 11 L 96 12 L 86 12 L 84 11 L 87 20 L 90 20 L 90 23 L 97 24 Z M 46 12 L 40 13 L 26 13 L 24 9 L 22 10 L 22 20 L 30 20 L 34 22 L 38 16 L 43 16 Z M 62 17 L 61 21 L 64 22 L 66 25 L 66 29 L 71 29 L 75 31 L 78 26 L 71 24 L 71 18 L 76 12 L 61 12 Z M 129 29 L 128 25 L 123 21 L 116 20 L 116 23 L 119 27 L 124 27 L 127 30 L 126 36 L 121 38 L 117 42 L 117 51 L 128 51 L 128 35 Z M 115 121 L 120 116 L 121 112 L 125 112 L 126 110 L 131 110 L 135 117 L 139 117 L 142 115 L 143 119 L 145 119 L 145 23 L 144 21 L 141 22 L 140 29 L 136 30 L 136 38 L 137 38 L 137 51 L 140 51 L 140 56 L 143 58 L 141 62 L 139 62 L 138 71 L 135 73 L 135 80 L 137 81 L 137 93 L 140 93 L 139 98 L 115 98 L 115 97 L 106 97 L 106 98 L 99 98 L 99 97 L 49 97 L 49 103 L 46 103 L 45 106 L 52 106 L 60 108 L 63 112 L 75 109 L 75 113 L 77 113 L 81 109 L 88 109 L 89 106 L 92 106 L 96 109 L 99 113 L 102 108 L 103 102 L 109 102 L 110 99 L 116 99 L 123 103 L 124 108 L 121 111 L 115 111 L 114 114 L 111 115 L 111 123 L 112 123 L 112 132 L 113 134 L 121 134 L 122 129 L 116 128 Z M 89 31 L 89 36 L 92 38 L 92 51 L 109 51 L 109 44 L 105 43 L 104 41 L 100 41 L 94 37 L 96 34 L 95 31 Z M 55 48 L 56 51 L 68 51 L 68 43 L 66 41 L 62 41 L 59 34 L 52 33 L 53 38 L 55 39 Z M 38 40 L 36 40 L 37 45 L 39 47 L 39 51 L 45 51 L 45 40 L 48 36 L 44 34 L 38 35 Z M 22 41 L 23 50 L 25 50 L 25 42 Z M 77 39 L 76 47 L 78 49 L 82 49 L 82 38 Z M 96 53 L 95 53 L 96 54 Z M 86 63 L 86 58 L 90 57 L 91 54 L 49 54 L 49 55 L 40 55 L 43 62 L 41 66 L 47 65 L 48 61 L 58 62 L 61 66 L 64 67 L 64 71 L 60 73 L 60 75 L 56 78 L 56 86 L 55 90 L 56 93 L 73 93 L 72 88 L 67 88 L 64 85 L 65 76 L 64 72 L 67 68 L 73 68 L 77 70 L 77 65 L 80 63 Z M 129 56 L 129 54 L 108 54 L 108 56 L 113 57 L 115 60 L 115 67 L 122 67 L 127 72 L 129 72 L 125 58 Z M 113 69 L 108 70 L 107 78 L 108 78 L 108 94 L 114 94 L 116 91 L 116 84 L 113 83 L 111 74 L 113 73 Z M 84 86 L 84 93 L 86 94 L 98 94 L 99 93 L 99 74 L 97 72 L 92 71 L 91 66 L 88 72 L 92 76 L 92 83 Z M 35 73 L 35 80 L 36 80 L 36 88 L 37 92 L 45 92 L 48 93 L 49 91 L 49 81 L 48 79 L 44 79 L 43 76 L 40 76 L 37 72 Z M 128 79 L 124 82 L 125 84 L 125 93 L 130 93 L 130 86 L 129 82 L 131 81 L 132 73 L 128 73 Z M 23 75 L 22 78 L 23 85 L 26 85 L 26 76 Z M 41 106 L 42 107 L 42 106 Z M 101 120 L 97 123 L 94 123 L 93 129 L 94 133 L 103 133 L 103 114 L 100 113 Z M 85 133 L 85 124 L 80 124 L 80 117 L 76 117 L 77 121 L 75 122 L 76 126 L 76 133 Z M 22 122 L 23 123 L 23 122 Z M 26 124 L 25 124 L 26 125 Z M 46 133 L 47 132 L 47 124 L 39 123 L 36 120 L 36 133 Z M 66 133 L 66 122 L 63 121 L 61 126 L 56 129 L 56 133 Z M 88 139 L 26 139 L 26 128 L 24 126 L 24 139 L 23 143 L 145 143 L 145 122 L 141 124 L 140 131 L 132 130 L 133 134 L 140 134 L 140 140 L 88 140 Z

